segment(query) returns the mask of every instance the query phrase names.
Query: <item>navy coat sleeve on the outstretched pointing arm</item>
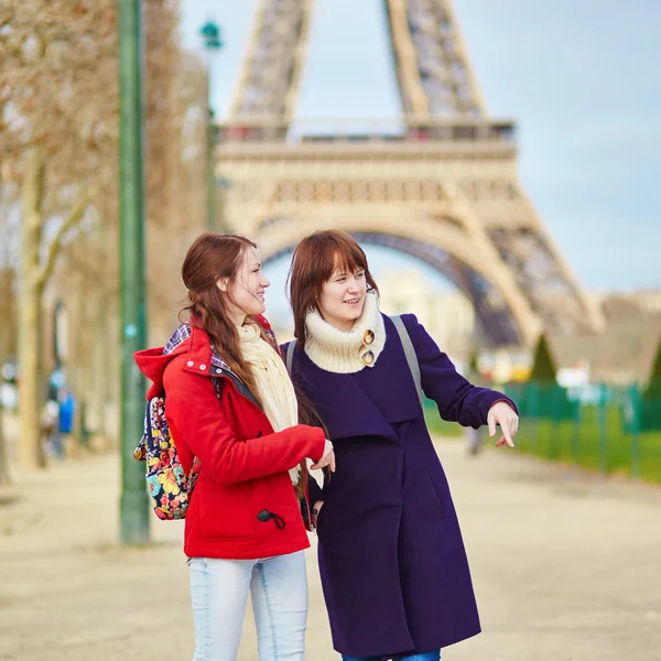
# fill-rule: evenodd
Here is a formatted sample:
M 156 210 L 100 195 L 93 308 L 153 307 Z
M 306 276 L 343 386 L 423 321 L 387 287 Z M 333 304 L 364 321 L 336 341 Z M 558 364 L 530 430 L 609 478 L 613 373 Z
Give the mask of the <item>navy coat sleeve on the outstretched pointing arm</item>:
M 422 389 L 436 402 L 443 420 L 478 429 L 487 424 L 489 409 L 498 401 L 506 401 L 517 411 L 514 402 L 501 392 L 478 388 L 462 377 L 414 314 L 402 315 L 402 322 L 415 348 Z

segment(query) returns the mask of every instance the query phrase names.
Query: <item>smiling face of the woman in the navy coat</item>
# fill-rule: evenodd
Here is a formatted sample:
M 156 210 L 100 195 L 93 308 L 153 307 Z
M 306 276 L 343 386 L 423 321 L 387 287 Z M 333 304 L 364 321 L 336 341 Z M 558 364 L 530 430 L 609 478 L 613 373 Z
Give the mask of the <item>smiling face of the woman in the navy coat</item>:
M 318 300 L 319 313 L 332 326 L 349 332 L 362 314 L 366 295 L 365 270 L 347 272 L 345 267 L 338 267 L 324 282 Z

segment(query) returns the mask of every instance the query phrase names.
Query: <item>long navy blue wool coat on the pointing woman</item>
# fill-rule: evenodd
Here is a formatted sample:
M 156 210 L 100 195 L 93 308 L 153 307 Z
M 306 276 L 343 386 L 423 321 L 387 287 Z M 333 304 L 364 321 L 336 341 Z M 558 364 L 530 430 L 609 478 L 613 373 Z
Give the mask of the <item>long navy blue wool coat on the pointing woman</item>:
M 458 375 L 414 315 L 402 321 L 441 416 L 486 424 L 507 398 Z M 297 347 L 292 362 L 335 445 L 336 473 L 323 494 L 312 485 L 311 502 L 324 500 L 318 560 L 333 646 L 351 657 L 430 652 L 480 631 L 447 479 L 394 324 L 383 323 L 372 368 L 329 372 Z

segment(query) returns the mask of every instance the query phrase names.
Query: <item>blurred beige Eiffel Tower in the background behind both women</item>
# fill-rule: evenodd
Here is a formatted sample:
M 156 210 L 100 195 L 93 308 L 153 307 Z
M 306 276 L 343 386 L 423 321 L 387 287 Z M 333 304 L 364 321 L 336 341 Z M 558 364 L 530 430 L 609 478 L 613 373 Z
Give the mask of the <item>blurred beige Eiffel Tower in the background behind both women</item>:
M 488 117 L 449 0 L 383 0 L 399 132 L 294 134 L 313 0 L 261 0 L 216 171 L 230 231 L 268 262 L 338 228 L 445 274 L 489 346 L 603 328 L 518 183 L 514 123 Z

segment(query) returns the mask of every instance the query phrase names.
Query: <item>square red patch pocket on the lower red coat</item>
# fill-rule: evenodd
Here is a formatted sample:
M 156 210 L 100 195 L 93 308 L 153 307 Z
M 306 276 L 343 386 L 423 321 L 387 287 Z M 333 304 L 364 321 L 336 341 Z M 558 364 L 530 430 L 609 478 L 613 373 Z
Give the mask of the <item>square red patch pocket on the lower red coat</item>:
M 242 540 L 254 537 L 249 481 L 217 485 L 197 483 L 199 534 L 204 540 Z

